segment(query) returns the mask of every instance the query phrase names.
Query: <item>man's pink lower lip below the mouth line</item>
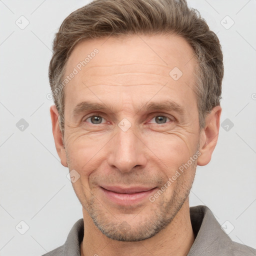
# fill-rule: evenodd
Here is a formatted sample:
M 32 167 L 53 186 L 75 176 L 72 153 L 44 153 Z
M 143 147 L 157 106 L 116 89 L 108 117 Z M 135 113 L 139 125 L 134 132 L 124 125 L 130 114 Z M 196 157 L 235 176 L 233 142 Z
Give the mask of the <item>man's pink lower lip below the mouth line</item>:
M 103 191 L 105 196 L 115 204 L 130 205 L 133 203 L 140 202 L 145 198 L 148 198 L 149 195 L 156 190 L 156 187 L 148 191 L 142 191 L 142 192 L 133 193 L 133 194 L 116 193 L 110 190 L 106 190 L 103 187 L 100 187 L 100 189 Z

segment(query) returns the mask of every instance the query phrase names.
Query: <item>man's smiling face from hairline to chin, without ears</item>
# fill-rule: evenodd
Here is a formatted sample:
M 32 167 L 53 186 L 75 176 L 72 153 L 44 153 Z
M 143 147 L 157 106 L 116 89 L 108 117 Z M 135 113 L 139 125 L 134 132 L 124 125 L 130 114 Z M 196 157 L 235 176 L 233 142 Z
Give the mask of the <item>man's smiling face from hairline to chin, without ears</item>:
M 95 225 L 112 239 L 142 240 L 170 223 L 192 185 L 196 62 L 178 36 L 109 37 L 79 43 L 65 75 L 94 48 L 64 88 L 66 161 L 80 175 L 73 188 Z

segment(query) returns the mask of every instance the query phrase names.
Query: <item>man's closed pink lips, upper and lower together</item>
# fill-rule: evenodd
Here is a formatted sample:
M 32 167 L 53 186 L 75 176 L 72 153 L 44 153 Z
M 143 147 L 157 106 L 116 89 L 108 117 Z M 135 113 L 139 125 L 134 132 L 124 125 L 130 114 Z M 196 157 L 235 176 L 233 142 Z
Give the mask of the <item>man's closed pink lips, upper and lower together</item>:
M 100 186 L 107 199 L 115 204 L 130 205 L 141 202 L 143 199 L 154 192 L 157 187 L 119 187 L 119 186 Z

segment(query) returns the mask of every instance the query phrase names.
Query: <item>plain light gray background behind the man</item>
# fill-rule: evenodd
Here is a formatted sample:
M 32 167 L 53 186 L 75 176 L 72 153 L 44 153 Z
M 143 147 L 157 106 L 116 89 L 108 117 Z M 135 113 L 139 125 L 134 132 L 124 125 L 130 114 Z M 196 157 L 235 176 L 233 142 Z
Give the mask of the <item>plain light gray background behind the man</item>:
M 81 206 L 58 159 L 47 77 L 51 43 L 82 0 L 0 0 L 0 255 L 41 255 L 64 243 Z M 229 236 L 256 247 L 256 0 L 189 0 L 224 54 L 221 123 L 211 162 L 197 167 L 190 204 L 207 205 Z M 20 29 L 23 15 L 29 24 Z M 232 20 L 234 24 L 229 28 Z M 222 21 L 221 21 L 222 20 Z M 224 27 L 222 24 L 226 27 Z M 23 131 L 16 123 L 24 118 Z M 223 125 L 224 126 L 224 125 Z M 25 231 L 25 224 L 29 229 Z M 225 222 L 228 221 L 228 222 Z M 210 231 L 210 230 L 209 230 Z

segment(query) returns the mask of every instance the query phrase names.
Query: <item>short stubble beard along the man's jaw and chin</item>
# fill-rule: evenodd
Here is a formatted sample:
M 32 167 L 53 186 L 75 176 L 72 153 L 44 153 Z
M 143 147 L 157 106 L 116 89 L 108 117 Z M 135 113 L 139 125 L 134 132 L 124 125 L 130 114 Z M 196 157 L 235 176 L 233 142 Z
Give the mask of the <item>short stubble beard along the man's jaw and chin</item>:
M 185 170 L 185 172 L 190 172 L 190 174 L 182 173 L 176 179 L 176 189 L 173 190 L 170 199 L 163 197 L 164 195 L 162 194 L 154 202 L 149 202 L 152 203 L 150 210 L 147 210 L 147 212 L 150 211 L 150 214 L 146 217 L 141 217 L 143 214 L 142 208 L 134 216 L 134 219 L 140 220 L 135 223 L 133 220 L 132 224 L 130 221 L 126 221 L 124 217 L 121 217 L 120 220 L 116 218 L 114 214 L 102 206 L 102 203 L 93 194 L 88 199 L 83 192 L 79 194 L 75 189 L 74 191 L 95 226 L 108 238 L 118 241 L 141 241 L 154 236 L 171 223 L 189 195 L 194 180 L 196 163 L 195 161 Z M 71 166 L 70 162 L 68 162 L 68 166 Z M 188 177 L 188 180 L 186 177 Z M 74 188 L 74 184 L 72 185 Z

